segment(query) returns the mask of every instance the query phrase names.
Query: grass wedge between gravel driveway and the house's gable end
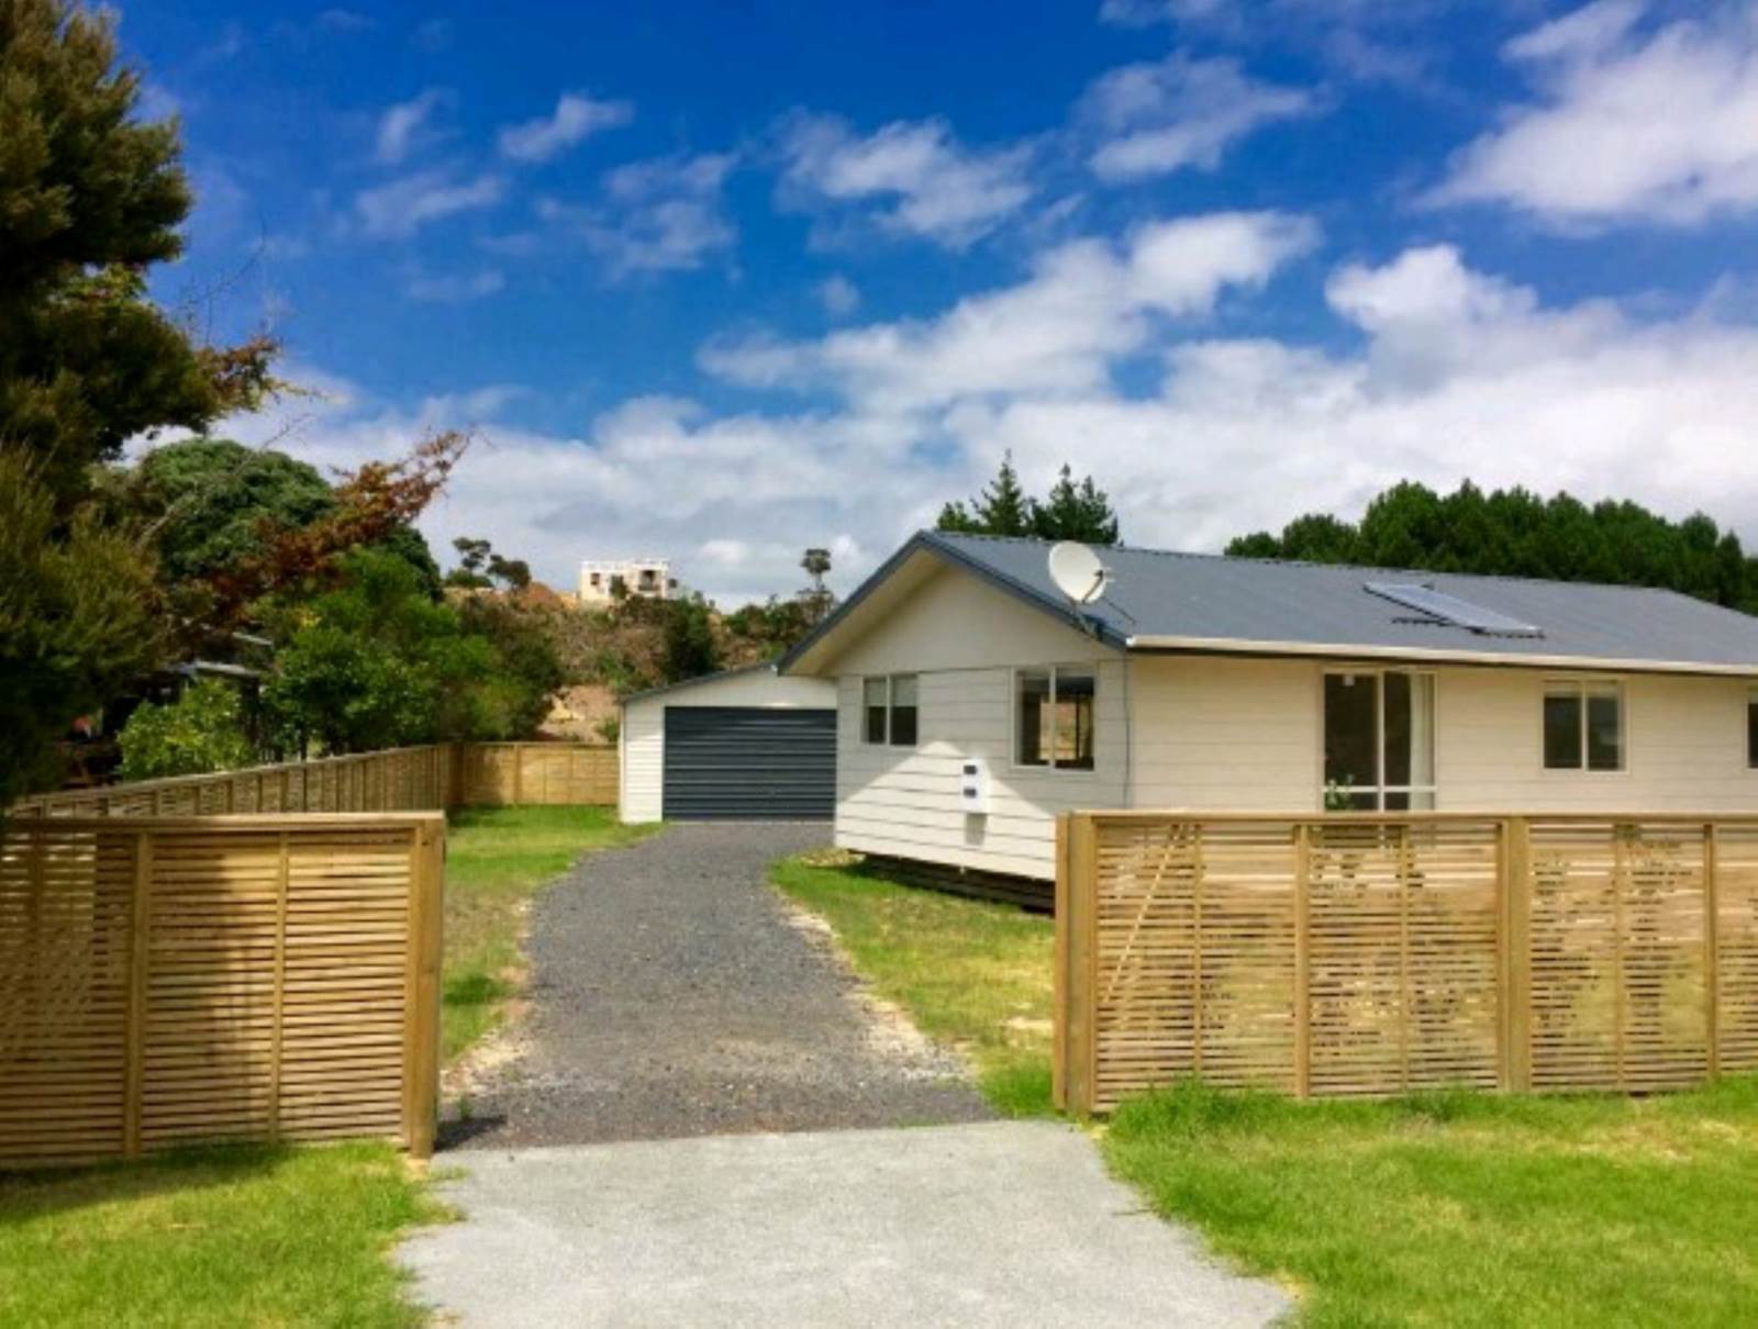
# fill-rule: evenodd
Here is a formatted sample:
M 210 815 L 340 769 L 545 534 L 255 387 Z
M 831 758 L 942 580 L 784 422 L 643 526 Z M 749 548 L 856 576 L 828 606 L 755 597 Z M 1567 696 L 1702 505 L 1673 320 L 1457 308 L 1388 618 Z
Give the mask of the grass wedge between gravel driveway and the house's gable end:
M 775 884 L 837 933 L 854 969 L 932 1039 L 965 1051 L 999 1113 L 1050 1113 L 1048 918 L 900 886 L 810 858 Z

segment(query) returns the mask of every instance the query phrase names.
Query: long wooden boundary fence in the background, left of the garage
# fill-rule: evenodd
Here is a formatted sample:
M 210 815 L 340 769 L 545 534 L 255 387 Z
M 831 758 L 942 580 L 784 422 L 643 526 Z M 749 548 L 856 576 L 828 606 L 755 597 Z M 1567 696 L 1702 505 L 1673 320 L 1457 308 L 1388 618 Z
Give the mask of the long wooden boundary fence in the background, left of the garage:
M 274 766 L 70 789 L 7 816 L 222 816 L 232 812 L 438 812 L 459 803 L 615 803 L 605 744 L 432 744 Z

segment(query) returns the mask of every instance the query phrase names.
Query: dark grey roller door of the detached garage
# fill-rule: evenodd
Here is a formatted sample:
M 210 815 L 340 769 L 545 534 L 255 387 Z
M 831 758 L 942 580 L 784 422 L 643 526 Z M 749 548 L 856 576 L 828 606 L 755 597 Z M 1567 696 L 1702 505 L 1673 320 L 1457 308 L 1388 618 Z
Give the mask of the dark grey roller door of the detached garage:
M 835 807 L 835 710 L 666 707 L 668 819 L 817 821 Z

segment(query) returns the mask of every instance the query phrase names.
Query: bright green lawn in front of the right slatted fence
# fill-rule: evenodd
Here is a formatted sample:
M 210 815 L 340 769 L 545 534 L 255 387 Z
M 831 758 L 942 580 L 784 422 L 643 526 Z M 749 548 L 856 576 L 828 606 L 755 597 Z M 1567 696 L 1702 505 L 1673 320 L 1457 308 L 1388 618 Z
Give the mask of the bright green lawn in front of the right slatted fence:
M 1310 1325 L 1758 1324 L 1758 1078 L 1691 1093 L 1125 1104 L 1113 1171 Z

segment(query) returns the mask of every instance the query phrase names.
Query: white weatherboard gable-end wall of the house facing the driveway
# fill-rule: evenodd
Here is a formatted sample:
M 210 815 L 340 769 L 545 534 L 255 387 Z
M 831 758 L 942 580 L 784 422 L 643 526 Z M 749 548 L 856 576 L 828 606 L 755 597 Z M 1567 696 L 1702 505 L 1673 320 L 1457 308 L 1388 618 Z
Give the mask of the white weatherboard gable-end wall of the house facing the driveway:
M 1013 673 L 1034 664 L 1097 670 L 1095 770 L 1013 763 Z M 1030 877 L 1055 875 L 1055 817 L 1123 798 L 1123 659 L 1072 624 L 981 578 L 941 571 L 832 666 L 837 707 L 837 844 L 898 858 Z M 861 742 L 861 679 L 914 673 L 912 749 Z M 990 812 L 960 805 L 960 766 L 981 758 Z

